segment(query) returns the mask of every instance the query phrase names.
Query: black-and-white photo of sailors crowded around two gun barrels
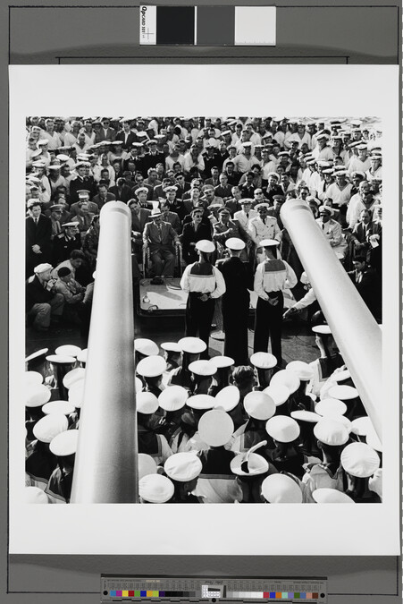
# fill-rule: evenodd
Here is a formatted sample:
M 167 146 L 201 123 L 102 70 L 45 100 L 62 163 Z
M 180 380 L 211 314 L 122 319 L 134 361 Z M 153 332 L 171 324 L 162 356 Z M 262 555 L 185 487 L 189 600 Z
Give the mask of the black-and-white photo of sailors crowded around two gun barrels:
M 382 503 L 382 133 L 27 116 L 26 503 Z

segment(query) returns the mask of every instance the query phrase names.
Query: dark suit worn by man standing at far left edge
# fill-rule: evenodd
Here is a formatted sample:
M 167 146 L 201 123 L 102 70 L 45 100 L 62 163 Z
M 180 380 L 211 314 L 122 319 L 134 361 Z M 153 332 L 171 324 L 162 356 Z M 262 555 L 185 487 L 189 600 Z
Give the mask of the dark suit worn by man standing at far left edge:
M 32 275 L 33 269 L 43 262 L 50 262 L 52 259 L 52 221 L 50 218 L 41 214 L 38 218 L 38 225 L 31 217 L 25 219 L 25 250 L 26 250 L 26 270 L 27 276 Z M 38 245 L 41 253 L 36 254 L 32 251 L 32 246 Z

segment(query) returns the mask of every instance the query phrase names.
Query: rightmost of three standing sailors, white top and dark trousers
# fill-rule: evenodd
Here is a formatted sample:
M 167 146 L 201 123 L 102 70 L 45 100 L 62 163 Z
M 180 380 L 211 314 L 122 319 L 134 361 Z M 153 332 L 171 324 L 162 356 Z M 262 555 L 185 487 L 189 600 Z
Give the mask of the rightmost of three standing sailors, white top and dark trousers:
M 297 285 L 297 276 L 290 265 L 277 259 L 275 249 L 279 242 L 264 239 L 260 242 L 266 259 L 256 268 L 254 290 L 258 295 L 255 315 L 254 353 L 267 352 L 269 336 L 272 353 L 281 366 L 281 325 L 284 307 L 284 289 Z

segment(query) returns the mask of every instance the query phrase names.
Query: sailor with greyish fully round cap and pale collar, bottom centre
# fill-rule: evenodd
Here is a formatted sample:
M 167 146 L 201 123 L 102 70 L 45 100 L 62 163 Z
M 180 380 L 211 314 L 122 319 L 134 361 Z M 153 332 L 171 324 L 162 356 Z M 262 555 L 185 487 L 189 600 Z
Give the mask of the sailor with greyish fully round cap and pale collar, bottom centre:
M 228 413 L 213 409 L 198 422 L 198 434 L 208 445 L 200 454 L 203 464 L 194 494 L 200 503 L 234 503 L 242 500 L 242 489 L 231 472 L 234 454 L 224 448 L 232 435 L 233 421 Z

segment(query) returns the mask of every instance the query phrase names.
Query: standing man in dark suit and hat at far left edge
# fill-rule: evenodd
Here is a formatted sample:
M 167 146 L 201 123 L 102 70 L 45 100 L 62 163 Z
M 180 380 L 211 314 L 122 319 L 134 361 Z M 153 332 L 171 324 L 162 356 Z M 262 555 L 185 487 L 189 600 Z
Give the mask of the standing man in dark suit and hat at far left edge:
M 32 275 L 33 269 L 40 263 L 46 263 L 52 256 L 52 221 L 42 214 L 39 200 L 29 200 L 29 216 L 25 220 L 26 271 Z

